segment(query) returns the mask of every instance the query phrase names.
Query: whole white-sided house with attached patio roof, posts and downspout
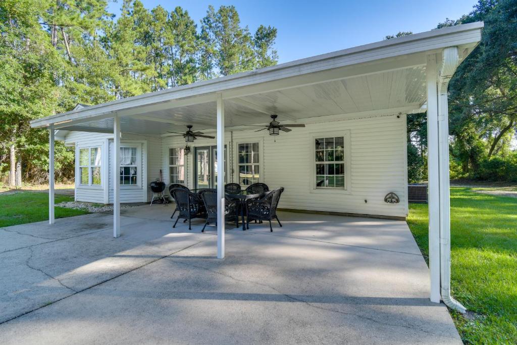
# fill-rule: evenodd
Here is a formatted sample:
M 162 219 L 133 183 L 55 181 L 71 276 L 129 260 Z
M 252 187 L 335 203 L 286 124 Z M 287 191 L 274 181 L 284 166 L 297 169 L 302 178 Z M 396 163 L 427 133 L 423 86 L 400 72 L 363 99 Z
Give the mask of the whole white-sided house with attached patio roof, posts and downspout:
M 55 130 L 76 147 L 77 200 L 113 202 L 114 237 L 120 202 L 149 201 L 160 169 L 167 184 L 217 181 L 219 259 L 228 182 L 284 187 L 280 208 L 404 218 L 406 116 L 427 112 L 430 298 L 464 312 L 450 295 L 447 87 L 482 27 L 436 29 L 35 119 L 33 128 L 50 133 L 49 222 Z M 273 114 L 296 126 L 273 125 Z M 183 156 L 186 125 L 214 139 L 196 134 Z M 225 161 L 216 161 L 216 149 Z M 399 198 L 385 201 L 389 192 Z

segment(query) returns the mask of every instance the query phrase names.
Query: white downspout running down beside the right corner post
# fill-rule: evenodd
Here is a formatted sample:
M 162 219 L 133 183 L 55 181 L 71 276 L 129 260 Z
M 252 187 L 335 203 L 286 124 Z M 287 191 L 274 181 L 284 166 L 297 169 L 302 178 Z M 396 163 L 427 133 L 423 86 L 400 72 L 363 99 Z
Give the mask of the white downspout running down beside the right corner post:
M 445 48 L 438 74 L 438 157 L 440 211 L 440 294 L 451 309 L 466 308 L 451 296 L 450 186 L 449 186 L 449 110 L 447 87 L 459 65 L 458 47 Z

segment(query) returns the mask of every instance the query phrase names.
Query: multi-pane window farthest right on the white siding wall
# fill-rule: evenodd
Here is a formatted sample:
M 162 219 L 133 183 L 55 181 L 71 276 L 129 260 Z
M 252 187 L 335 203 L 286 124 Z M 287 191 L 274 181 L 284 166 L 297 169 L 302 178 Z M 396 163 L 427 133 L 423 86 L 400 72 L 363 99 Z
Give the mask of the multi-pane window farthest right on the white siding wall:
M 345 188 L 344 137 L 315 139 L 316 188 Z

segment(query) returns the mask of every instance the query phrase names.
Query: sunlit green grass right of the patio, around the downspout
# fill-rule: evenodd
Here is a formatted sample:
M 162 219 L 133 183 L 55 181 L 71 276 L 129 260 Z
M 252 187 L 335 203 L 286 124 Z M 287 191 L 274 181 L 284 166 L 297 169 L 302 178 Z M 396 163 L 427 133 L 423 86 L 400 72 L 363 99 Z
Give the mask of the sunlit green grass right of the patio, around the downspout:
M 427 256 L 428 208 L 407 219 Z M 451 290 L 474 317 L 451 312 L 465 343 L 517 343 L 517 198 L 451 188 Z

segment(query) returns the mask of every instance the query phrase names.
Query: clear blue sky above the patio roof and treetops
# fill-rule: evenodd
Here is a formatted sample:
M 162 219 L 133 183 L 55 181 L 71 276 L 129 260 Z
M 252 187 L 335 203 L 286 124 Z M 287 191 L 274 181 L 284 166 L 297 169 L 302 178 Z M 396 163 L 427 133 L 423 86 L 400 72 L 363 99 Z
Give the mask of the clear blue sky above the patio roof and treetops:
M 161 5 L 188 10 L 199 25 L 208 5 L 234 5 L 242 25 L 254 33 L 260 24 L 278 29 L 279 63 L 380 41 L 399 31 L 419 33 L 436 27 L 446 17 L 458 19 L 476 0 L 362 0 L 362 1 L 166 1 L 142 0 L 148 9 Z M 110 2 L 118 17 L 121 0 Z

